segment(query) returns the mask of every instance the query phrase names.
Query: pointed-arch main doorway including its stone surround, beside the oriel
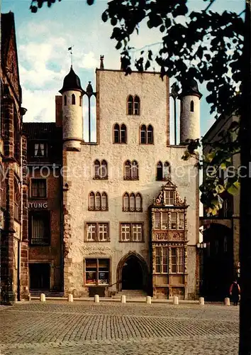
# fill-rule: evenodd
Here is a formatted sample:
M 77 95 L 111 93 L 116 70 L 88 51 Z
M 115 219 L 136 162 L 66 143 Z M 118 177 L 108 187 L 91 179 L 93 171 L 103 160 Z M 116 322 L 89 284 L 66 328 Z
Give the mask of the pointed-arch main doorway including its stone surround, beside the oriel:
M 147 290 L 147 263 L 138 253 L 128 253 L 118 263 L 118 290 Z

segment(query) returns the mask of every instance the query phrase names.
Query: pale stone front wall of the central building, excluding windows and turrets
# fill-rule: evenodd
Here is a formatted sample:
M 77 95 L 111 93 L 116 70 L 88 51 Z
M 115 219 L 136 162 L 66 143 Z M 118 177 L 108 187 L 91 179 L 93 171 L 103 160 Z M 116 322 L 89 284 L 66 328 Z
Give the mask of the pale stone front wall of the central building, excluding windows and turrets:
M 150 269 L 149 257 L 149 215 L 147 208 L 160 192 L 162 181 L 156 181 L 156 167 L 159 160 L 168 160 L 172 168 L 172 181 L 177 185 L 182 198 L 186 197 L 189 208 L 188 239 L 195 246 L 196 231 L 196 179 L 194 160 L 184 162 L 184 147 L 167 146 L 169 99 L 167 79 L 162 82 L 158 75 L 138 74 L 124 77 L 122 72 L 98 71 L 100 143 L 82 144 L 81 152 L 65 152 L 67 173 L 64 184 L 69 185 L 65 193 L 65 292 L 84 294 L 83 260 L 86 256 L 111 257 L 111 280 L 116 283 L 117 266 L 129 251 L 139 253 Z M 129 94 L 140 97 L 140 116 L 126 115 L 126 98 Z M 128 143 L 113 144 L 113 125 L 126 124 Z M 139 144 L 139 127 L 152 124 L 154 145 Z M 105 159 L 108 163 L 108 180 L 93 180 L 94 160 Z M 123 180 L 125 160 L 137 160 L 139 180 Z M 108 211 L 88 211 L 89 192 L 103 192 L 108 195 Z M 143 212 L 123 212 L 124 192 L 140 192 L 143 196 Z M 84 242 L 84 226 L 87 222 L 109 222 L 110 242 Z M 144 242 L 120 242 L 120 222 L 143 222 Z M 188 293 L 195 290 L 195 258 L 189 271 Z

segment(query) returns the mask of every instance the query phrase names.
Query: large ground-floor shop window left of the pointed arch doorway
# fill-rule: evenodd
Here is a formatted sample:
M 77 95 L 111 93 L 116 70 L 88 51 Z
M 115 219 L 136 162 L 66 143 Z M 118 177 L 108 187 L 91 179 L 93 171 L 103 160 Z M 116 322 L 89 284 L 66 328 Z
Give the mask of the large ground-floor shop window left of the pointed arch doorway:
M 109 259 L 92 258 L 85 261 L 85 283 L 86 285 L 108 285 L 109 284 Z

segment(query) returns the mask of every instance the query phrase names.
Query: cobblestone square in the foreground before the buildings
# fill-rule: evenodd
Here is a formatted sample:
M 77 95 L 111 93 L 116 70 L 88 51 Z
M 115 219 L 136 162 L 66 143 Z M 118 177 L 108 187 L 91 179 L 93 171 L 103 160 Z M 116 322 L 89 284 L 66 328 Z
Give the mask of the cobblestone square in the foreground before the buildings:
M 27 302 L 0 307 L 1 355 L 238 354 L 239 307 Z

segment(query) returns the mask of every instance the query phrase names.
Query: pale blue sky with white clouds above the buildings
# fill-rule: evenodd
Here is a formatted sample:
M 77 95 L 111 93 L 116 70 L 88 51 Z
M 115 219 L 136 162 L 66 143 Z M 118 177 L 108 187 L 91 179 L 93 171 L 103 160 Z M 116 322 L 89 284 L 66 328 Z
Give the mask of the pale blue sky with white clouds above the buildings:
M 168 0 L 163 0 L 168 1 Z M 108 0 L 96 0 L 88 6 L 86 0 L 62 0 L 49 9 L 46 4 L 37 13 L 31 13 L 30 0 L 2 0 L 1 13 L 13 11 L 16 24 L 16 40 L 23 107 L 28 109 L 23 121 L 55 121 L 55 95 L 62 88 L 62 82 L 69 72 L 71 58 L 67 50 L 73 45 L 73 67 L 85 89 L 89 81 L 95 91 L 95 69 L 99 57 L 104 55 L 105 69 L 120 69 L 120 53 L 111 40 L 112 26 L 101 21 L 101 13 Z M 189 9 L 205 9 L 203 0 L 189 0 Z M 224 10 L 240 13 L 245 0 L 216 0 L 211 11 Z M 161 34 L 155 29 L 140 26 L 139 35 L 133 35 L 131 45 L 136 49 L 161 41 Z M 153 52 L 160 45 L 151 47 Z M 135 54 L 134 54 L 135 55 Z M 152 65 L 150 70 L 157 65 Z M 172 82 L 171 82 L 172 84 Z M 199 87 L 201 98 L 201 136 L 213 124 L 210 106 L 206 102 L 206 87 Z M 174 143 L 173 101 L 171 103 L 171 143 Z M 95 117 L 95 109 L 91 113 Z M 177 109 L 179 116 L 179 109 Z M 177 126 L 179 129 L 179 123 Z M 95 140 L 95 121 L 92 126 L 92 140 Z M 84 138 L 88 137 L 87 109 L 84 108 Z M 88 141 L 88 139 L 87 139 Z M 178 141 L 179 142 L 179 141 Z

